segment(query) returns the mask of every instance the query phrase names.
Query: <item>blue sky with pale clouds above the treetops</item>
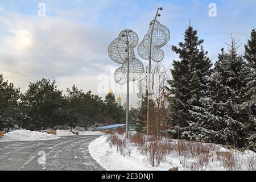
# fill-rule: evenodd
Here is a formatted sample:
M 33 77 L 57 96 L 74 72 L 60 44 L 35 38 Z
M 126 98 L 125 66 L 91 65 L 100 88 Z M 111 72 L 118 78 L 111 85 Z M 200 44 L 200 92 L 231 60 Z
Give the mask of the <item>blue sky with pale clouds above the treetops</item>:
M 216 16 L 209 16 L 210 3 L 216 5 Z M 231 34 L 241 39 L 242 54 L 256 27 L 254 0 L 0 0 L 0 74 L 22 92 L 30 81 L 48 78 L 64 94 L 73 84 L 101 97 L 112 89 L 123 103 L 126 85 L 114 82 L 120 65 L 110 60 L 108 46 L 125 28 L 142 40 L 158 7 L 163 7 L 158 20 L 171 32 L 163 47 L 167 67 L 179 59 L 171 46 L 183 41 L 189 19 L 213 63 Z M 142 62 L 146 67 L 148 61 Z M 131 106 L 137 106 L 135 90 L 131 82 Z

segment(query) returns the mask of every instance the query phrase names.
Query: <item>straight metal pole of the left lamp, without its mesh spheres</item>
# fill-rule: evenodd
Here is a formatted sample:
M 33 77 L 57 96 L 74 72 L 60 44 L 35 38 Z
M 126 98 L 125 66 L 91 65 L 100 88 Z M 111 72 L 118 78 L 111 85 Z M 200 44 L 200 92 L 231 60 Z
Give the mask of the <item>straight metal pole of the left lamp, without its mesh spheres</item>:
M 126 30 L 126 44 L 127 44 L 127 93 L 126 93 L 126 138 L 129 137 L 128 134 L 128 124 L 129 124 L 129 73 L 130 73 L 130 52 L 129 52 L 129 39 L 128 32 Z

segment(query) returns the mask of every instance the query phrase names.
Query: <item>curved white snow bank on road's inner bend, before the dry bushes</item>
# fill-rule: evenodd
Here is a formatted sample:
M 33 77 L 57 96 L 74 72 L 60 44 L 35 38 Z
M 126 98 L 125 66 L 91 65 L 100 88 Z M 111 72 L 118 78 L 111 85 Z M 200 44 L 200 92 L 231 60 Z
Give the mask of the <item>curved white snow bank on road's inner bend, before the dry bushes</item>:
M 173 160 L 172 165 L 163 164 L 153 168 L 144 162 L 143 156 L 132 152 L 131 156 L 123 156 L 109 147 L 106 136 L 97 138 L 89 144 L 89 152 L 93 159 L 108 171 L 168 171 L 171 167 L 179 166 L 178 160 Z

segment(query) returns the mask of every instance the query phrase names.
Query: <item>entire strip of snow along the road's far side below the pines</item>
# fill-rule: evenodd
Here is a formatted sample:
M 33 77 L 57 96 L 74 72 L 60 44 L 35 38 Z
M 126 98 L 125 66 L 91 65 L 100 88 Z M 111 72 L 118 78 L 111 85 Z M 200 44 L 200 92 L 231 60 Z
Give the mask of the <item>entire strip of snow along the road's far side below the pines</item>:
M 104 133 L 100 131 L 80 131 L 79 135 L 104 135 Z M 57 130 L 56 135 L 40 133 L 39 131 L 15 130 L 0 137 L 0 142 L 53 140 L 64 136 L 74 136 L 74 134 L 67 130 Z

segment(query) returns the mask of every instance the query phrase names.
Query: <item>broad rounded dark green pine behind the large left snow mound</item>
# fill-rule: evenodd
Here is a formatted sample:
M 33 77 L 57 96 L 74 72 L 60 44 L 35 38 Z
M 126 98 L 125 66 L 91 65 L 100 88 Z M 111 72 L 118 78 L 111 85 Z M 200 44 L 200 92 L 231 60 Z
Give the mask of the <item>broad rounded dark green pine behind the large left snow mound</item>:
M 22 96 L 27 117 L 23 118 L 26 129 L 55 129 L 56 126 L 72 123 L 65 110 L 62 91 L 57 89 L 55 81 L 43 78 L 35 83 L 30 82 L 28 90 Z

